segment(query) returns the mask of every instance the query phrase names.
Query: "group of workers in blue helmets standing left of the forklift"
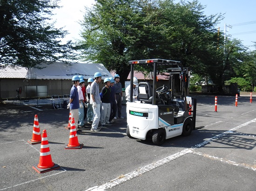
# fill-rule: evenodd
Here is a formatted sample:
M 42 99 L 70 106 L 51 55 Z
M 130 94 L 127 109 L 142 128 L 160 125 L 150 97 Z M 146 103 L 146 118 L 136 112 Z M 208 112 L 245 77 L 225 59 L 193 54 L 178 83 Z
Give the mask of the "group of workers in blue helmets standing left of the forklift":
M 115 122 L 114 119 L 117 118 L 115 117 L 116 113 L 119 119 L 124 119 L 121 115 L 123 97 L 122 85 L 119 81 L 120 76 L 118 74 L 115 74 L 114 78 L 105 78 L 105 86 L 100 91 L 100 72 L 94 74 L 94 79 L 88 79 L 88 86 L 86 88 L 83 76 L 73 76 L 73 86 L 70 90 L 68 107 L 70 108 L 71 119 L 74 118 L 78 134 L 80 131 L 78 127 L 85 126 L 84 120 L 86 116 L 88 123 L 92 124 L 91 131 L 96 132 L 100 131 L 102 127 Z M 86 110 L 87 112 L 85 113 Z M 101 126 L 98 127 L 100 122 Z

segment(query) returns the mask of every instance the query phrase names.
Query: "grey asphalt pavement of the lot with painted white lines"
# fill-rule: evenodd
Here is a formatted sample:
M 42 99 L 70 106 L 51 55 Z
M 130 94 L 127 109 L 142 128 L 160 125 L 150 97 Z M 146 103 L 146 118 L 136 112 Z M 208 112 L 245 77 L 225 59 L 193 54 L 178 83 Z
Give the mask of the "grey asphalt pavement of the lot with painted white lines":
M 256 102 L 240 96 L 192 96 L 197 99 L 196 130 L 188 137 L 129 139 L 125 119 L 100 132 L 81 128 L 81 149 L 65 150 L 69 110 L 53 109 L 51 100 L 0 105 L 0 191 L 255 191 Z M 34 101 L 33 101 L 34 102 Z M 25 103 L 25 104 L 24 104 Z M 31 103 L 31 104 L 30 104 Z M 30 145 L 34 115 L 47 130 L 51 157 L 61 167 L 45 173 L 40 144 Z

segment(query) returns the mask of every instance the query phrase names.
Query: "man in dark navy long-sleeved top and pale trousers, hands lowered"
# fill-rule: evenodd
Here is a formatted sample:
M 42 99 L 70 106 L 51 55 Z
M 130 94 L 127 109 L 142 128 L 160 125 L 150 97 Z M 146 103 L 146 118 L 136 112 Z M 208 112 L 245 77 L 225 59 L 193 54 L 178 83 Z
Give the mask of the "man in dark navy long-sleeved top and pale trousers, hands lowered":
M 104 79 L 105 86 L 101 89 L 101 127 L 105 125 L 110 125 L 110 102 L 111 102 L 111 89 L 110 89 L 110 79 L 107 77 Z

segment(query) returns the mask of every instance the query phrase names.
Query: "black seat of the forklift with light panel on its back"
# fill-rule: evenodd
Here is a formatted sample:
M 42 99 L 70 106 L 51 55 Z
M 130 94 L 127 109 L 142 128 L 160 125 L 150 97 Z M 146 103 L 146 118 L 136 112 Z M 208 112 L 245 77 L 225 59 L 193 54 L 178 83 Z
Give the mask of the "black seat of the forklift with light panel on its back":
M 140 82 L 138 86 L 138 93 L 140 101 L 152 103 L 153 90 L 149 83 Z

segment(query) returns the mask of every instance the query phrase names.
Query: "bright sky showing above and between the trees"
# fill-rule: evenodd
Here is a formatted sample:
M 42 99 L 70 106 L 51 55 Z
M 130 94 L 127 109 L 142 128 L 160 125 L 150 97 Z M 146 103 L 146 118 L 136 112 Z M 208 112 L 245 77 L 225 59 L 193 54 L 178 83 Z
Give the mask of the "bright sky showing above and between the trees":
M 179 2 L 179 0 L 175 0 Z M 256 1 L 255 0 L 199 0 L 206 6 L 203 10 L 205 15 L 225 13 L 224 19 L 216 26 L 224 32 L 225 24 L 226 35 L 231 35 L 229 39 L 237 38 L 242 40 L 242 44 L 253 51 L 256 42 Z M 84 6 L 92 6 L 94 0 L 61 0 L 60 9 L 55 9 L 54 20 L 57 28 L 64 27 L 70 34 L 63 38 L 62 41 L 81 39 L 81 26 L 78 23 L 83 19 Z

